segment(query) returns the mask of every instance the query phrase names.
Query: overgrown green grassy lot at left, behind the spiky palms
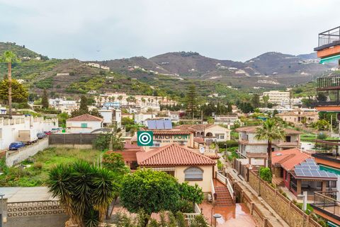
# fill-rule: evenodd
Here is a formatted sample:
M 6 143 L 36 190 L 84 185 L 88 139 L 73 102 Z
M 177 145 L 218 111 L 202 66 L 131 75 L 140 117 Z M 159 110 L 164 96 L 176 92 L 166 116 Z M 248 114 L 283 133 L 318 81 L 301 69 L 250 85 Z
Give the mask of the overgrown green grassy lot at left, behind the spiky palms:
M 50 147 L 37 153 L 22 165 L 7 168 L 1 163 L 0 187 L 34 187 L 44 186 L 49 170 L 58 164 L 72 163 L 78 160 L 94 163 L 101 152 L 93 149 L 69 149 Z

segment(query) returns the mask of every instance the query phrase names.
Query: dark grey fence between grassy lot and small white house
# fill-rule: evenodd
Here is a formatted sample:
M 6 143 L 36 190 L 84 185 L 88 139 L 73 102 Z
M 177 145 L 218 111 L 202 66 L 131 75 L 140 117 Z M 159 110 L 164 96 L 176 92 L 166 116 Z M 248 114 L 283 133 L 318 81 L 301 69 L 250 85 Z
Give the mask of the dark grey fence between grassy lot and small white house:
M 48 143 L 50 145 L 68 144 L 68 145 L 91 145 L 97 138 L 98 134 L 50 134 Z

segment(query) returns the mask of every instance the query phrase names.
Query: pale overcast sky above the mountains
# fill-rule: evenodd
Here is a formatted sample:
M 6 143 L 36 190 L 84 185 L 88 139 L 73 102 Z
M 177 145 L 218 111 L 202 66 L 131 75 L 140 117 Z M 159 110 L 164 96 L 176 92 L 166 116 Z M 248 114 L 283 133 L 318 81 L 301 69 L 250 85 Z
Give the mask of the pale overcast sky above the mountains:
M 307 54 L 340 25 L 339 0 L 0 0 L 0 41 L 48 57 L 108 60 L 193 51 L 246 61 Z

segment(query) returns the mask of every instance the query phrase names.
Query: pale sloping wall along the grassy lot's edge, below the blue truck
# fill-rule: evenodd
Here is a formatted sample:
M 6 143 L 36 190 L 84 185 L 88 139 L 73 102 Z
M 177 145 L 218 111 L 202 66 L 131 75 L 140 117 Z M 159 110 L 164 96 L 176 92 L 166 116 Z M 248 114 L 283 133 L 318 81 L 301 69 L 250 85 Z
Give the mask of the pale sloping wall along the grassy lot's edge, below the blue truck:
M 6 165 L 12 166 L 16 163 L 20 163 L 30 156 L 34 156 L 39 151 L 43 149 L 47 149 L 48 147 L 48 139 L 39 139 L 35 144 L 30 144 L 29 146 L 24 146 L 22 149 L 18 149 L 18 151 L 7 151 L 6 152 Z

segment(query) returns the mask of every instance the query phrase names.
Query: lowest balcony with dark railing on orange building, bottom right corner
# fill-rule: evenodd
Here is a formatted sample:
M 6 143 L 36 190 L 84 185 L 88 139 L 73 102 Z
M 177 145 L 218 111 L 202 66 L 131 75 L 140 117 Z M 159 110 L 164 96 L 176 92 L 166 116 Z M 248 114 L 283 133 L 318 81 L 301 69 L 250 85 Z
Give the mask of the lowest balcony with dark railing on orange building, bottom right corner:
M 314 192 L 311 204 L 314 212 L 333 222 L 340 222 L 340 202 L 336 200 L 338 191 Z

